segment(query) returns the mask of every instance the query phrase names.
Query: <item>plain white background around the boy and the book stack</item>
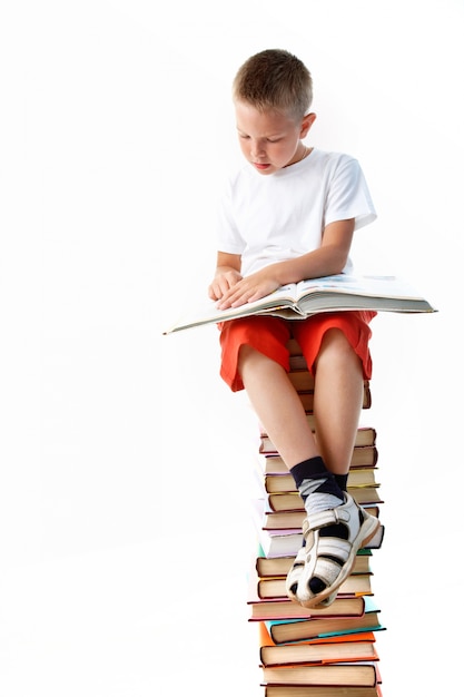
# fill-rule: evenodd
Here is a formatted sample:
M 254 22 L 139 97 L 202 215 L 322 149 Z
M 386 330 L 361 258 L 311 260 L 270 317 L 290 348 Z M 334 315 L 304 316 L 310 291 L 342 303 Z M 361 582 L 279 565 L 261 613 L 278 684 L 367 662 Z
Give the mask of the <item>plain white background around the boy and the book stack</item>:
M 314 77 L 307 143 L 355 155 L 359 265 L 435 315 L 373 325 L 386 537 L 384 697 L 456 694 L 461 647 L 463 3 L 3 2 L 0 694 L 261 694 L 246 585 L 255 421 L 203 297 L 230 82 L 280 47 Z

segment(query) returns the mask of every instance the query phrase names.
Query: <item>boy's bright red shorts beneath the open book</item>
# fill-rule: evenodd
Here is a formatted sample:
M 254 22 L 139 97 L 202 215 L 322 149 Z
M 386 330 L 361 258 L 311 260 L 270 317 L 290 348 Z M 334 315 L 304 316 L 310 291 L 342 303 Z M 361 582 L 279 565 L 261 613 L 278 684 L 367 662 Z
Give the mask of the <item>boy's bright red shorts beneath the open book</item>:
M 372 377 L 372 359 L 368 342 L 372 335 L 369 322 L 377 313 L 369 311 L 327 312 L 307 320 L 282 320 L 267 315 L 253 315 L 220 323 L 220 346 L 223 351 L 220 376 L 233 392 L 244 389 L 238 374 L 238 352 L 249 345 L 264 353 L 289 371 L 287 342 L 294 337 L 314 374 L 315 362 L 327 330 L 340 330 L 363 364 L 364 380 Z

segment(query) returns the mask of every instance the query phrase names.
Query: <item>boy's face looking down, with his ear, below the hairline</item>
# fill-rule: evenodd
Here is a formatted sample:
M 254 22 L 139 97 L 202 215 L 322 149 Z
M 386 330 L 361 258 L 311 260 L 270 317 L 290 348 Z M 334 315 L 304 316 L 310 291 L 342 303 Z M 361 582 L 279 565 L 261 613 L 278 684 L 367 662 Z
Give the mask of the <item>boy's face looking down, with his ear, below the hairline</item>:
M 275 111 L 258 111 L 244 102 L 235 102 L 238 140 L 246 159 L 263 175 L 270 175 L 299 161 L 305 154 L 302 143 L 312 127 L 315 114 L 300 121 Z

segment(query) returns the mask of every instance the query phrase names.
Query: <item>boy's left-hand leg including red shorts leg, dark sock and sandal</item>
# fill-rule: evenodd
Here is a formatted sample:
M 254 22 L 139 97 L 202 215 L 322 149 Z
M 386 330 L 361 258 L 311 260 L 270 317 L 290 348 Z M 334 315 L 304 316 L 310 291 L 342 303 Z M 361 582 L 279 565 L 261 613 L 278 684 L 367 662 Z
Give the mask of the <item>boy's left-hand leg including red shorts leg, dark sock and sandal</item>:
M 313 336 L 313 326 L 308 330 Z M 315 342 L 313 363 L 319 354 L 323 365 L 324 354 L 327 350 L 328 355 L 332 345 L 328 340 L 329 336 L 324 351 L 319 351 L 323 342 Z M 366 516 L 342 491 L 324 464 L 299 396 L 286 373 L 288 353 L 282 350 L 287 341 L 287 330 L 276 318 L 225 323 L 221 376 L 234 391 L 245 386 L 302 494 L 308 513 L 304 524 L 306 548 L 300 550 L 288 575 L 287 590 L 302 605 L 316 607 L 320 601 L 332 602 L 367 533 L 372 537 L 374 532 L 367 530 Z M 349 460 L 351 453 L 348 463 Z M 337 479 L 344 488 L 346 474 L 337 473 Z M 378 521 L 374 519 L 374 522 L 376 529 Z

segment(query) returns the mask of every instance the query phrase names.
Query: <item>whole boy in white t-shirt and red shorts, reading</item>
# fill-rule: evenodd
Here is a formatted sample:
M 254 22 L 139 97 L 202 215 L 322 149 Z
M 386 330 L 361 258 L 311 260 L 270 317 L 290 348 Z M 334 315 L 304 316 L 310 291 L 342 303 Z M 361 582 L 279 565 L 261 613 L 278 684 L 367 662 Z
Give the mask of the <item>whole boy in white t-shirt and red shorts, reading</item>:
M 309 71 L 285 50 L 251 56 L 235 77 L 247 164 L 230 178 L 220 205 L 217 268 L 208 289 L 220 308 L 288 283 L 349 271 L 354 230 L 376 217 L 358 163 L 304 144 L 316 118 L 312 97 Z M 296 321 L 253 315 L 218 325 L 221 377 L 233 391 L 246 390 L 305 504 L 304 546 L 286 588 L 308 608 L 333 602 L 358 549 L 378 527 L 346 491 L 364 380 L 372 374 L 374 315 L 345 311 Z M 315 434 L 288 379 L 290 336 L 315 377 Z

